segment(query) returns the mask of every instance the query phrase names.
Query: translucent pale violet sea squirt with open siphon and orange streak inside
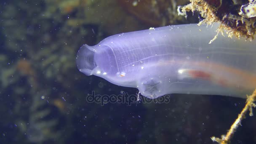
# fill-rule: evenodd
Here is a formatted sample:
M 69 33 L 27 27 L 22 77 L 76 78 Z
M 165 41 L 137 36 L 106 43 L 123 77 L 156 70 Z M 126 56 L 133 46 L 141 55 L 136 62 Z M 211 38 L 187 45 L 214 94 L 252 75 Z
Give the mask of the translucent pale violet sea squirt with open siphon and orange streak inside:
M 171 93 L 245 97 L 256 87 L 256 40 L 216 35 L 219 24 L 173 25 L 83 45 L 77 67 L 150 99 Z

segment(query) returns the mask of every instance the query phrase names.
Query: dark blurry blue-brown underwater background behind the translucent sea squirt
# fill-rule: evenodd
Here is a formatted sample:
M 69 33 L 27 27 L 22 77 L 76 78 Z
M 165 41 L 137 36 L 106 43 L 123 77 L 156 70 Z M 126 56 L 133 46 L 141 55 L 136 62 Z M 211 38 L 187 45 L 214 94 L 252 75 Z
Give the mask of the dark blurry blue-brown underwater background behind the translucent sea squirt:
M 197 13 L 177 16 L 176 6 L 188 0 L 174 2 L 0 0 L 0 144 L 212 144 L 211 136 L 225 134 L 245 99 L 170 94 L 137 101 L 136 88 L 76 67 L 83 44 L 198 22 Z M 256 143 L 255 122 L 247 115 L 231 144 Z

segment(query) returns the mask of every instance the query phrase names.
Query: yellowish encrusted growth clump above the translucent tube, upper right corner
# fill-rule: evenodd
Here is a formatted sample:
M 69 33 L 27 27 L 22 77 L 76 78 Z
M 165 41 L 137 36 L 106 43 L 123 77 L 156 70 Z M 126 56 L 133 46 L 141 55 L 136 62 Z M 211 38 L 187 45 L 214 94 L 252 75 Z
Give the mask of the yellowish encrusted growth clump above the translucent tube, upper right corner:
M 179 15 L 186 16 L 187 11 L 199 11 L 204 18 L 199 25 L 221 22 L 217 35 L 226 32 L 228 37 L 235 36 L 239 39 L 245 37 L 253 40 L 256 32 L 254 0 L 190 0 L 190 2 L 188 5 L 178 7 Z

